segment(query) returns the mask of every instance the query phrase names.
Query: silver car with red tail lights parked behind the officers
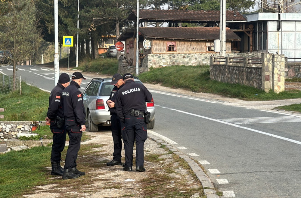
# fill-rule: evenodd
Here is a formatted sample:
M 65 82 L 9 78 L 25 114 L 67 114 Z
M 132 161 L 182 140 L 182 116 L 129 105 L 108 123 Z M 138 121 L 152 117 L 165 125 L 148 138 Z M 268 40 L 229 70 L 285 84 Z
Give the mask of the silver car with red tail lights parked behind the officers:
M 142 83 L 137 77 L 134 81 Z M 98 126 L 111 125 L 109 107 L 106 103 L 114 87 L 111 82 L 112 78 L 93 78 L 83 92 L 86 120 L 91 132 L 98 131 Z M 147 102 L 146 107 L 147 111 L 151 113 L 151 122 L 147 124 L 147 129 L 153 129 L 155 126 L 154 100 Z

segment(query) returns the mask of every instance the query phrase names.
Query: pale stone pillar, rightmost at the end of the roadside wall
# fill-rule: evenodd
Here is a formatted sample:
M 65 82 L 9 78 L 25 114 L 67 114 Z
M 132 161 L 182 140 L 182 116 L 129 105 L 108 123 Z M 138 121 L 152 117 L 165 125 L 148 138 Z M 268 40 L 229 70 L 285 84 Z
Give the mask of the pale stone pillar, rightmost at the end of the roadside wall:
M 285 57 L 283 54 L 273 54 L 272 61 L 274 65 L 273 91 L 279 93 L 284 91 Z

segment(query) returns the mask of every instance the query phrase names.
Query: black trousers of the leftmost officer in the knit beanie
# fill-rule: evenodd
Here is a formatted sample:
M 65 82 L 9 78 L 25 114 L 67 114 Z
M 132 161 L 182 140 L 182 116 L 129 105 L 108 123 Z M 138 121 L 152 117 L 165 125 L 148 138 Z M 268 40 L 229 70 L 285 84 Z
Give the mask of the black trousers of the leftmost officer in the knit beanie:
M 57 128 L 56 123 L 54 123 L 54 121 L 51 121 L 50 130 L 53 134 L 53 144 L 50 161 L 59 163 L 61 161 L 61 152 L 64 150 L 66 143 L 66 129 L 65 126 L 63 126 L 61 129 Z

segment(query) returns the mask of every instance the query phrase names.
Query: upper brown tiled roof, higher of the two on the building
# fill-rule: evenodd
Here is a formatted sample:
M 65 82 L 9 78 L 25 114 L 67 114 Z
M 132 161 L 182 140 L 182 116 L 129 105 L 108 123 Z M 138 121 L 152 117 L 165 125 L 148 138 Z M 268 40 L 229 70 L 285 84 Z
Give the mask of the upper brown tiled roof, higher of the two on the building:
M 127 20 L 136 20 L 137 10 L 132 10 Z M 139 19 L 147 21 L 181 21 L 181 22 L 207 22 L 219 21 L 219 10 L 139 10 Z M 226 10 L 226 21 L 246 21 L 240 13 Z

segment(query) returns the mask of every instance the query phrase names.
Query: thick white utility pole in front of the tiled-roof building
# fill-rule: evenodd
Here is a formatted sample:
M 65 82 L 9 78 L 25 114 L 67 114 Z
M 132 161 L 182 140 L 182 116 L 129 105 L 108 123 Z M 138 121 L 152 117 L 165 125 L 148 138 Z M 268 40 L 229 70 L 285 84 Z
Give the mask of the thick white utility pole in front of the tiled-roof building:
M 220 44 L 220 56 L 226 56 L 226 0 L 221 0 L 221 11 L 219 19 L 219 40 Z

